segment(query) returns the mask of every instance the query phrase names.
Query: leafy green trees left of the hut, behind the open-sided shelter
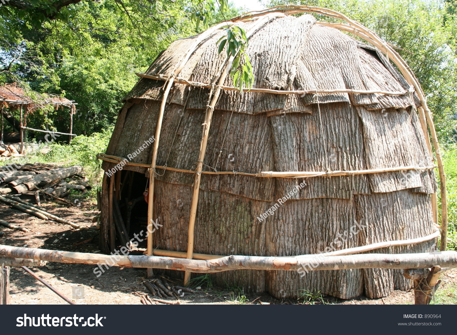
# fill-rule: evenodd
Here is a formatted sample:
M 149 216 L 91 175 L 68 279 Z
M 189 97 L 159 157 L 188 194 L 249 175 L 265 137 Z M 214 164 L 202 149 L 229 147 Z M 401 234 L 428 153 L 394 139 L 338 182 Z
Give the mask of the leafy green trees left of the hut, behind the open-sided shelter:
M 0 7 L 0 82 L 28 83 L 75 100 L 75 134 L 113 125 L 138 80 L 135 72 L 147 69 L 170 42 L 192 34 L 186 0 L 80 1 L 55 15 L 51 2 L 23 3 L 27 9 Z M 43 113 L 35 113 L 29 126 L 41 128 Z M 67 131 L 69 110 L 56 110 L 48 120 Z

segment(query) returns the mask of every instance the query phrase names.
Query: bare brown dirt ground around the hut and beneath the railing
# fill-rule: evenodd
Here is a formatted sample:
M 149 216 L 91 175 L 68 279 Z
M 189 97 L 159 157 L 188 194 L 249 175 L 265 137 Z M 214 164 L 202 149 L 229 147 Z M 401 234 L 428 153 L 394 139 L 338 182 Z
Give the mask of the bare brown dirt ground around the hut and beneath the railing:
M 30 229 L 28 233 L 8 228 L 2 229 L 0 244 L 10 246 L 27 246 L 31 248 L 79 251 L 98 253 L 98 230 L 92 218 L 99 212 L 92 204 L 82 203 L 80 207 L 64 207 L 52 202 L 42 204 L 50 213 L 73 221 L 85 227 L 74 230 L 68 225 L 51 220 L 40 220 L 5 204 L 0 204 L 0 220 L 21 225 Z M 81 243 L 82 242 L 82 243 Z M 66 297 L 72 299 L 73 291 L 81 293 L 84 298 L 72 299 L 75 304 L 141 304 L 138 292 L 145 293 L 143 279 L 144 269 L 112 267 L 96 278 L 94 266 L 85 264 L 63 264 L 49 262 L 46 267 L 31 268 L 33 272 L 57 288 Z M 437 303 L 455 301 L 457 288 L 457 269 L 441 276 L 441 287 L 445 299 Z M 170 283 L 173 283 L 171 278 Z M 182 283 L 175 282 L 182 285 Z M 380 299 L 367 299 L 360 296 L 350 300 L 341 300 L 324 296 L 314 301 L 295 299 L 276 299 L 268 294 L 245 294 L 224 288 L 195 288 L 197 293 L 181 293 L 182 297 L 169 298 L 170 302 L 180 304 L 414 304 L 412 292 L 395 291 L 392 295 Z M 62 298 L 46 288 L 42 283 L 18 267 L 11 268 L 11 304 L 67 304 Z M 151 297 L 153 298 L 153 297 Z M 448 298 L 446 300 L 446 298 Z M 447 301 L 447 302 L 446 302 Z M 160 304 L 159 302 L 154 302 Z

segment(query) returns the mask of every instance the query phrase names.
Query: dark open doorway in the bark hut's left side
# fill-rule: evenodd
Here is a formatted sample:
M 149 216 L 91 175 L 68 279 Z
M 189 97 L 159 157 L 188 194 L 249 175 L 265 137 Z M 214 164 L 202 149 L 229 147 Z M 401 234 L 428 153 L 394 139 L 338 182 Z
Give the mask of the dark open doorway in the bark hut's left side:
M 135 233 L 140 234 L 141 231 L 143 231 L 144 238 L 148 222 L 148 203 L 146 202 L 148 196 L 145 197 L 143 193 L 148 185 L 148 178 L 143 173 L 122 170 L 120 181 L 117 202 L 128 239 L 132 239 Z M 117 237 L 119 238 L 119 234 Z M 146 246 L 147 242 L 143 240 L 139 242 L 138 248 L 146 248 Z

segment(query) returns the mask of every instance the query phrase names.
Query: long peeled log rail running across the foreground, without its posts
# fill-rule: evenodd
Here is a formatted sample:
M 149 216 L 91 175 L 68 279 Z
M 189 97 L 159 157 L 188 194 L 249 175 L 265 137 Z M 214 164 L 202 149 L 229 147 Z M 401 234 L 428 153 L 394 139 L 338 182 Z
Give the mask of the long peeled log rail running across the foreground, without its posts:
M 230 270 L 308 271 L 344 269 L 420 269 L 435 265 L 457 267 L 457 251 L 417 254 L 359 254 L 346 256 L 306 255 L 297 257 L 226 256 L 211 260 L 161 256 L 110 256 L 81 252 L 54 251 L 0 245 L 0 256 L 60 263 L 108 264 L 116 267 L 142 267 L 213 273 Z M 317 264 L 316 267 L 310 264 Z

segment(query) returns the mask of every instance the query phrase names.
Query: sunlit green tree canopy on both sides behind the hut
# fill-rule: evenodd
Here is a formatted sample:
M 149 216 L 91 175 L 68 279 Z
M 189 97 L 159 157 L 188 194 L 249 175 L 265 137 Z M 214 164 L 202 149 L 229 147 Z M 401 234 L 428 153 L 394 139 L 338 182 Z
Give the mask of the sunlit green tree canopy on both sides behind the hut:
M 289 2 L 271 0 L 269 5 Z M 425 90 L 441 137 L 451 135 L 457 111 L 455 0 L 297 3 L 340 11 L 397 47 Z M 37 92 L 75 100 L 74 133 L 101 131 L 114 123 L 122 97 L 138 80 L 135 72 L 144 71 L 170 42 L 195 34 L 195 21 L 201 23 L 197 28 L 201 31 L 205 25 L 239 15 L 233 6 L 221 13 L 220 6 L 227 4 L 213 0 L 5 0 L 0 7 L 0 82 L 20 81 Z M 231 32 L 220 41 L 221 51 L 231 36 L 242 38 L 242 32 Z M 237 40 L 232 44 L 237 46 Z M 244 50 L 243 45 L 238 48 Z M 249 68 L 249 59 L 242 54 L 239 59 Z M 236 69 L 232 74 L 236 75 Z M 40 110 L 34 118 L 43 125 L 68 128 L 67 111 Z

